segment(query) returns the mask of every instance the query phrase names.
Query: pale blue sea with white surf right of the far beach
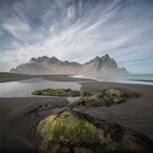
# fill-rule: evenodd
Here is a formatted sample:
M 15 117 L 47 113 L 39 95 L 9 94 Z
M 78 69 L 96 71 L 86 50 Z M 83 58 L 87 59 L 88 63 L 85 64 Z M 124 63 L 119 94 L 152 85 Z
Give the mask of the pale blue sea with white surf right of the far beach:
M 153 74 L 98 74 L 98 75 L 73 75 L 73 78 L 94 79 L 102 82 L 117 82 L 127 84 L 153 85 Z

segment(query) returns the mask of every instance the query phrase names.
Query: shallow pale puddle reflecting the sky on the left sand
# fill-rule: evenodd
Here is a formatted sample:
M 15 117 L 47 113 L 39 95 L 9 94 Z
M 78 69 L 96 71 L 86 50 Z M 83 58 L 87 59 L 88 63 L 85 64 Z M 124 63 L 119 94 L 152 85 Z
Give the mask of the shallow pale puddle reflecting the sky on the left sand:
M 78 82 L 54 82 L 42 78 L 24 81 L 13 81 L 0 83 L 0 97 L 31 97 L 32 93 L 43 89 L 71 89 L 80 91 L 81 84 Z M 69 98 L 68 98 L 69 99 Z M 69 99 L 72 102 L 72 99 Z

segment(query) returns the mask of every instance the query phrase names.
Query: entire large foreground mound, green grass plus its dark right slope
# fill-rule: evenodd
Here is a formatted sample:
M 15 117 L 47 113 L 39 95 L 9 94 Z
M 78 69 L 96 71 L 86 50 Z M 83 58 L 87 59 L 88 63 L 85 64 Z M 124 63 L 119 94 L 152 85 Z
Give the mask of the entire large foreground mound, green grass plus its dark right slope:
M 42 153 L 152 153 L 153 142 L 118 123 L 67 109 L 37 127 Z

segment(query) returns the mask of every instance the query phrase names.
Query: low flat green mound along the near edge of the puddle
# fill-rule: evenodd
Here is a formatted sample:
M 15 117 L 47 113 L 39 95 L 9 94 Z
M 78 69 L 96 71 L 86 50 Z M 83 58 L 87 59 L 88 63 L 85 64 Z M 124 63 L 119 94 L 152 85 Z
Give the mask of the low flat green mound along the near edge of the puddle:
M 38 90 L 32 93 L 34 95 L 50 95 L 50 96 L 80 96 L 79 91 L 72 91 L 70 89 L 45 89 L 45 90 Z

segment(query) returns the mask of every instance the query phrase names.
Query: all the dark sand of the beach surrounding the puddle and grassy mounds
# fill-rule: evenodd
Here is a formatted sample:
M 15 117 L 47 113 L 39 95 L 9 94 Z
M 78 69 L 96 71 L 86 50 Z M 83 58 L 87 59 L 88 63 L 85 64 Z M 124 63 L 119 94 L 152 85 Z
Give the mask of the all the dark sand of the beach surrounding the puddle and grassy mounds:
M 83 91 L 99 93 L 107 87 L 121 87 L 140 93 L 123 104 L 109 107 L 79 107 L 86 113 L 107 121 L 117 121 L 142 132 L 153 140 L 153 86 L 120 83 L 96 82 L 82 79 L 69 79 L 68 75 L 28 75 L 0 74 L 0 82 L 43 76 L 54 81 L 75 81 L 82 83 Z M 86 82 L 89 81 L 89 82 Z M 37 122 L 49 114 L 59 111 L 69 103 L 64 98 L 52 97 L 12 97 L 0 98 L 0 151 L 37 152 L 38 138 L 35 134 Z

